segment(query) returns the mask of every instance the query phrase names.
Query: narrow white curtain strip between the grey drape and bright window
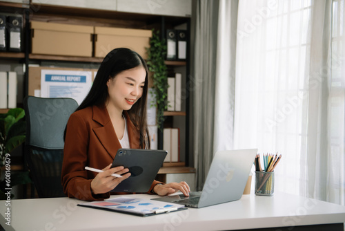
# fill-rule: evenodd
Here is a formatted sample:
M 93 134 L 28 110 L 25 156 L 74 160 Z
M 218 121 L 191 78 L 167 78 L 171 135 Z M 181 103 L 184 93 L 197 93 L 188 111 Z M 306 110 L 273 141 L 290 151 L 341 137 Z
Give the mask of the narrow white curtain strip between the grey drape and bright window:
M 213 152 L 233 149 L 238 1 L 219 1 Z

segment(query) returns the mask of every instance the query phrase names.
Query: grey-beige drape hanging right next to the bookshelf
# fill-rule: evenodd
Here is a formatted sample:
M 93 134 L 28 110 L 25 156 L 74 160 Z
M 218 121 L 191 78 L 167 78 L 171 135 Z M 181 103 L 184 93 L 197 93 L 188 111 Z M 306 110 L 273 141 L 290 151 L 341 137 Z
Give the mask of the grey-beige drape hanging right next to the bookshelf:
M 213 158 L 218 1 L 197 0 L 193 81 L 194 162 L 201 190 Z

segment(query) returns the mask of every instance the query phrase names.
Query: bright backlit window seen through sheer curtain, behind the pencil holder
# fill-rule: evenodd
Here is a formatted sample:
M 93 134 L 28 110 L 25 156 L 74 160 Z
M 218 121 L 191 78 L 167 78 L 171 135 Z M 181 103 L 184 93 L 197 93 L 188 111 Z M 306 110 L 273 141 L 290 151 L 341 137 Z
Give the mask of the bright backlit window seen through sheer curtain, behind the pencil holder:
M 252 30 L 237 37 L 235 148 L 282 154 L 275 187 L 299 194 L 312 1 L 239 5 L 237 30 Z

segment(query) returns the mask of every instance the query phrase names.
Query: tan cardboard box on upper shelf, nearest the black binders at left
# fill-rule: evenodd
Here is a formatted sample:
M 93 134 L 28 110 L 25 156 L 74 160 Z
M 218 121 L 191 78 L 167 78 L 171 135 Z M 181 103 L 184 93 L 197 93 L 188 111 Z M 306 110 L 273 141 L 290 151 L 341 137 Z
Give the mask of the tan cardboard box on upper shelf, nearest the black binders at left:
M 32 54 L 92 57 L 93 26 L 31 21 Z

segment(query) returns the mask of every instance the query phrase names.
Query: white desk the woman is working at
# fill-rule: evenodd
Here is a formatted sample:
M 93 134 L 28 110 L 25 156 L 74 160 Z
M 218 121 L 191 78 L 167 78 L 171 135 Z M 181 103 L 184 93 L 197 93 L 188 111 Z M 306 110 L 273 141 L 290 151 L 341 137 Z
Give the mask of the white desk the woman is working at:
M 147 194 L 128 196 L 157 197 Z M 6 230 L 190 231 L 277 227 L 300 230 L 297 226 L 312 224 L 333 224 L 328 230 L 343 230 L 345 221 L 344 206 L 284 193 L 244 195 L 239 201 L 148 217 L 77 207 L 80 201 L 72 198 L 12 200 L 11 226 L 5 224 L 5 203 L 0 201 L 0 223 Z

